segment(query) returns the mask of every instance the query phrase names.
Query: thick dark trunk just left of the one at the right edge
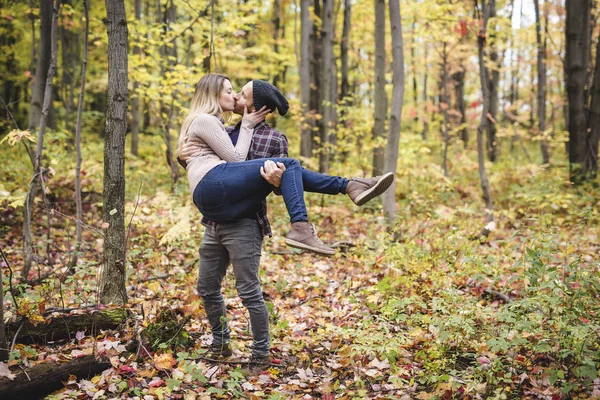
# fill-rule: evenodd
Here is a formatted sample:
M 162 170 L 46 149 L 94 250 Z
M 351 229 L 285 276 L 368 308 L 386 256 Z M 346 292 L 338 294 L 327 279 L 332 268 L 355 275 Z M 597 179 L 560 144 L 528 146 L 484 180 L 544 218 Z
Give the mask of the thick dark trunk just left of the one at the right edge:
M 598 172 L 598 122 L 600 115 L 600 55 L 596 51 L 591 107 L 588 109 L 588 67 L 591 53 L 591 2 L 565 3 L 565 86 L 569 103 L 569 175 L 574 183 L 596 178 Z M 598 47 L 597 47 L 598 48 Z M 588 114 L 590 118 L 588 119 Z M 592 125 L 594 123 L 594 125 Z

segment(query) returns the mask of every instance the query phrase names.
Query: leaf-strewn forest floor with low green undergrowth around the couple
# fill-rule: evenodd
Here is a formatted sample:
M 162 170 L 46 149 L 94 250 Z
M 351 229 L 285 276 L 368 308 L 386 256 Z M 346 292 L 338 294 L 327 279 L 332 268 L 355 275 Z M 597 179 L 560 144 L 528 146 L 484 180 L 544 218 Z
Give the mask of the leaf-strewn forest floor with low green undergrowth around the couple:
M 100 146 L 89 144 L 94 156 L 84 162 L 89 227 L 71 275 L 65 265 L 75 228 L 61 215 L 75 213 L 72 162 L 62 161 L 69 151 L 58 142 L 49 146 L 57 162 L 48 186 L 59 211 L 51 216 L 50 242 L 41 202 L 34 226 L 40 259 L 52 264 L 39 272 L 55 273 L 35 287 L 13 278 L 19 309 L 5 293 L 9 320 L 97 304 Z M 342 243 L 330 258 L 285 247 L 285 207 L 271 196 L 275 236 L 263 245 L 261 280 L 277 364 L 258 369 L 243 363 L 249 323 L 231 273 L 224 294 L 234 355 L 220 363 L 203 359 L 210 335 L 195 294 L 200 216 L 185 180 L 170 194 L 167 168 L 157 171 L 160 155 L 152 158 L 160 150 L 149 149 L 152 156 L 127 162 L 129 322 L 57 344 L 16 344 L 11 353 L 13 373 L 88 354 L 110 360 L 101 375 L 69 379 L 48 398 L 600 398 L 600 193 L 572 187 L 564 165 L 542 168 L 508 151 L 506 161 L 489 164 L 495 229 L 480 240 L 484 207 L 474 159 L 453 150 L 452 175 L 444 177 L 437 150 L 403 139 L 393 235 L 379 200 L 357 208 L 345 196 L 307 195 L 321 239 Z M 14 161 L 0 167 L 7 177 L 0 183 L 0 237 L 18 273 L 22 207 L 8 204 L 22 193 L 30 166 L 6 148 L 0 153 Z M 30 277 L 37 274 L 36 267 Z M 160 330 L 165 315 L 181 330 L 146 339 L 148 351 L 139 357 L 125 349 Z

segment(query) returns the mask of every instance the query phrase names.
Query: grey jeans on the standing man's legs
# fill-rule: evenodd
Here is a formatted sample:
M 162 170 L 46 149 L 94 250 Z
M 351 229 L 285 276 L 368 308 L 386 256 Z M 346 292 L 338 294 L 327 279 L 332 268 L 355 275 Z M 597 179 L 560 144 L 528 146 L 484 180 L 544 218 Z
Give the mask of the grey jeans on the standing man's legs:
M 231 263 L 238 295 L 250 313 L 251 348 L 252 354 L 257 357 L 268 356 L 270 348 L 269 313 L 258 279 L 262 240 L 255 219 L 245 218 L 206 227 L 200 246 L 198 271 L 198 294 L 204 303 L 213 343 L 228 343 L 230 331 L 221 283 Z

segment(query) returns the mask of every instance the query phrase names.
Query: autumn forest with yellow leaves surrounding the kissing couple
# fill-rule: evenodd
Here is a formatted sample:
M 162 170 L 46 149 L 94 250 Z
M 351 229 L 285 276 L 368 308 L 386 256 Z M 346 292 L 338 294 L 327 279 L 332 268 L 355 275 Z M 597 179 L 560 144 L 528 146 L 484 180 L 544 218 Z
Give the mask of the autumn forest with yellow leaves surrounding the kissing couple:
M 600 398 L 598 12 L 0 0 L 0 398 Z M 208 72 L 276 85 L 290 112 L 267 122 L 303 166 L 396 174 L 361 209 L 306 195 L 328 259 L 283 245 L 269 197 L 261 280 L 283 362 L 262 374 L 202 359 L 204 228 L 175 143 Z M 224 291 L 243 359 L 231 276 Z

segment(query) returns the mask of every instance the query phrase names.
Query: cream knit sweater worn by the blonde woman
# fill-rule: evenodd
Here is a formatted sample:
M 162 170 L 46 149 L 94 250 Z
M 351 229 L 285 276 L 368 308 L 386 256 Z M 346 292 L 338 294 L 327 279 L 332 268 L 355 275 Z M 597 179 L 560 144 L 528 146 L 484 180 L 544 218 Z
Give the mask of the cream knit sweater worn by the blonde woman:
M 240 136 L 234 146 L 219 118 L 209 114 L 199 114 L 196 117 L 188 128 L 179 154 L 187 162 L 192 195 L 202 178 L 217 165 L 246 160 L 252 141 L 252 125 L 252 122 L 242 120 Z

